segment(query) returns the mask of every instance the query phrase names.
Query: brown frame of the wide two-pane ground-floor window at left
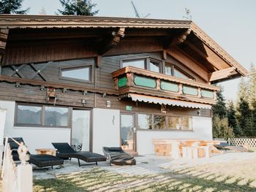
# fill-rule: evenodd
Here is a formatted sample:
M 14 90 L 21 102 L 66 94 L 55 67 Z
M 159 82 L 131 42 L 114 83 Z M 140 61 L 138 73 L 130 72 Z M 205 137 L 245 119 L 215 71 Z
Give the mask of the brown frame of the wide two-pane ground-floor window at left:
M 31 107 L 41 107 L 41 124 L 30 124 L 30 123 L 18 123 L 18 106 L 31 106 Z M 67 126 L 45 126 L 45 107 L 59 107 L 59 108 L 67 108 Z M 14 126 L 17 127 L 29 127 L 29 128 L 71 128 L 70 126 L 70 120 L 72 119 L 72 107 L 66 107 L 66 106 L 53 106 L 48 104 L 29 104 L 29 103 L 15 103 L 15 115 L 14 115 Z

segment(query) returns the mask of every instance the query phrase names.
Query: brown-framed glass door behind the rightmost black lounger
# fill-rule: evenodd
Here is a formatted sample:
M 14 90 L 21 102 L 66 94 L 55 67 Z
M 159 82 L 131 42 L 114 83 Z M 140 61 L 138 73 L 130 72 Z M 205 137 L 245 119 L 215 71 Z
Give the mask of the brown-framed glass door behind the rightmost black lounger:
M 123 150 L 136 151 L 135 115 L 121 114 L 121 147 Z

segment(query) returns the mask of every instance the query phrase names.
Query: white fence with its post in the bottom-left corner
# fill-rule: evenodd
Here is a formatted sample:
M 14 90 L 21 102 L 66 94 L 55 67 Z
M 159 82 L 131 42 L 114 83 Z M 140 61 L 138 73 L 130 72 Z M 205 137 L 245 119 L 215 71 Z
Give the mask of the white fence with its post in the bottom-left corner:
M 1 189 L 3 192 L 32 192 L 32 166 L 24 162 L 16 166 L 7 141 L 8 138 L 5 142 L 4 160 L 1 167 Z

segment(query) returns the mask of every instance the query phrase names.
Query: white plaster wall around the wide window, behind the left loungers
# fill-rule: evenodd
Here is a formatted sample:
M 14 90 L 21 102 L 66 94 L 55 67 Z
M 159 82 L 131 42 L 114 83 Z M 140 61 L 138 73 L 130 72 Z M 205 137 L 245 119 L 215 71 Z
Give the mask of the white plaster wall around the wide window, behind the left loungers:
M 36 148 L 53 148 L 51 142 L 70 142 L 70 128 L 14 127 L 15 101 L 0 101 L 0 107 L 7 109 L 4 135 L 23 137 L 30 153 L 36 153 Z

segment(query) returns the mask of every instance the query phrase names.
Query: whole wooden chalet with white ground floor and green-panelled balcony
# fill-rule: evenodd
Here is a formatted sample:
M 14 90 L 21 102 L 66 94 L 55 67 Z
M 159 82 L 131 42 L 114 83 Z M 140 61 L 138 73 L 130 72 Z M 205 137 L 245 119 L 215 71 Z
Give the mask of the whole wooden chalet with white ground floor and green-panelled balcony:
M 31 151 L 210 140 L 213 84 L 247 74 L 189 20 L 0 15 L 0 32 L 4 132 Z

